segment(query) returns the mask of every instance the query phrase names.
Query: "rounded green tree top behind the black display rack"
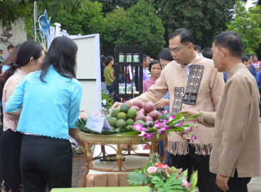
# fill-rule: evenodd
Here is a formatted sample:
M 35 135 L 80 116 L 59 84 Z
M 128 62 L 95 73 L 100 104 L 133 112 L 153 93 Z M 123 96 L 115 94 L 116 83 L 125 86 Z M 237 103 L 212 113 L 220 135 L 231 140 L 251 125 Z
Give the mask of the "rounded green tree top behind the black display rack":
M 111 47 L 142 45 L 144 53 L 156 56 L 165 44 L 162 21 L 155 8 L 144 0 L 126 11 L 123 8 L 114 10 L 106 15 L 104 21 L 106 27 L 102 38 L 104 44 L 108 43 Z

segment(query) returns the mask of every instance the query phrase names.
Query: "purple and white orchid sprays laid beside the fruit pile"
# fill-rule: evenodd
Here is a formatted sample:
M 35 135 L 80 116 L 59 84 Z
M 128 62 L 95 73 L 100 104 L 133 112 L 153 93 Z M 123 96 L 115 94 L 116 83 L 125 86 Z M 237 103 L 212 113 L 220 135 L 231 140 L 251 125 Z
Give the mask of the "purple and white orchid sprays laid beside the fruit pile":
M 194 123 L 188 123 L 187 121 L 193 121 L 198 119 L 198 116 L 202 115 L 190 115 L 189 113 L 179 112 L 177 115 L 172 115 L 166 111 L 161 112 L 161 117 L 158 121 L 150 123 L 149 125 L 134 123 L 133 132 L 126 132 L 124 135 L 138 134 L 142 137 L 142 141 L 149 140 L 157 134 L 157 138 L 161 134 L 171 134 L 170 132 L 176 132 L 179 134 L 186 143 L 196 140 L 196 135 L 192 134 L 192 130 L 196 128 L 196 121 Z

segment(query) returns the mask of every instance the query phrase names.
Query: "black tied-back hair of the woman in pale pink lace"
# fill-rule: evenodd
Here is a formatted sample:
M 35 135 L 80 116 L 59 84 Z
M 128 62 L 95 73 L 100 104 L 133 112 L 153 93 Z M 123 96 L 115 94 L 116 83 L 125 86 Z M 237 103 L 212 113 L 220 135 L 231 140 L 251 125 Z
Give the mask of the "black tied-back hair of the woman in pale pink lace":
M 14 47 L 14 49 L 16 49 L 16 47 Z M 11 61 L 8 63 L 9 69 L 5 71 L 5 81 L 14 74 L 14 71 L 16 71 L 17 68 L 25 66 L 28 62 L 30 62 L 32 57 L 34 60 L 40 58 L 43 51 L 43 48 L 32 40 L 25 41 L 21 46 L 18 47 L 18 49 L 19 51 L 17 52 L 15 62 Z M 15 53 L 16 52 L 13 54 Z

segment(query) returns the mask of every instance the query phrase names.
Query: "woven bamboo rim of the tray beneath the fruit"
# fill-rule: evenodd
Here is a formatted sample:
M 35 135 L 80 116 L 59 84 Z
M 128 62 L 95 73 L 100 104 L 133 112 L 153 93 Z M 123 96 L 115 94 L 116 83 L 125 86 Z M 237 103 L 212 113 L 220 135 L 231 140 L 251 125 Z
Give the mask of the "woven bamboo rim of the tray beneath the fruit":
M 106 135 L 106 134 L 88 134 L 80 131 L 80 139 L 86 143 L 99 143 L 99 144 L 140 144 L 141 137 L 138 135 L 130 135 L 124 136 L 123 134 L 118 135 Z M 166 139 L 168 134 L 161 134 L 159 139 L 157 139 L 157 135 L 154 136 L 150 140 L 146 140 L 145 142 L 157 142 L 163 139 Z

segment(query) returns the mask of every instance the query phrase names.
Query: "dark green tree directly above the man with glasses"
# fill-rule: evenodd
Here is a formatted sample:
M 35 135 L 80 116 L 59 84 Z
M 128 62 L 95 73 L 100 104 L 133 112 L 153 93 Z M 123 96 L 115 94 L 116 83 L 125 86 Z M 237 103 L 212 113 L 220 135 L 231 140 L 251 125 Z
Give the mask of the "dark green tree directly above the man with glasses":
M 157 10 L 166 29 L 165 38 L 178 28 L 192 32 L 195 44 L 210 47 L 216 34 L 225 31 L 231 21 L 235 1 L 159 0 Z

